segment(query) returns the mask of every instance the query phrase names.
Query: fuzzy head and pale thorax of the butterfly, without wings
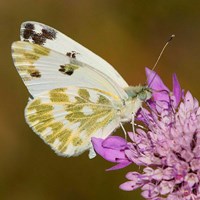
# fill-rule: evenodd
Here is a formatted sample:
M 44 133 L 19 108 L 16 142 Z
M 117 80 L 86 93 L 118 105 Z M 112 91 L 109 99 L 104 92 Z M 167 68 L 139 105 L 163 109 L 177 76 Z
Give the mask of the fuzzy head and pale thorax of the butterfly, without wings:
M 148 86 L 130 86 L 125 88 L 128 99 L 124 101 L 123 109 L 120 117 L 122 121 L 130 121 L 132 114 L 135 114 L 142 106 L 142 103 L 147 101 L 152 96 L 152 91 Z

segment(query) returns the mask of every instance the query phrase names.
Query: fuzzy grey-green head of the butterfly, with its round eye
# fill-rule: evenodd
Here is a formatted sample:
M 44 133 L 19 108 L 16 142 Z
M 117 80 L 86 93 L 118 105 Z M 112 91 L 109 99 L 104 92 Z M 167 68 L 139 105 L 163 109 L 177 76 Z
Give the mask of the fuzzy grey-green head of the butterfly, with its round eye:
M 148 85 L 130 86 L 125 88 L 125 91 L 128 94 L 129 99 L 138 98 L 142 102 L 147 101 L 152 97 L 152 90 Z

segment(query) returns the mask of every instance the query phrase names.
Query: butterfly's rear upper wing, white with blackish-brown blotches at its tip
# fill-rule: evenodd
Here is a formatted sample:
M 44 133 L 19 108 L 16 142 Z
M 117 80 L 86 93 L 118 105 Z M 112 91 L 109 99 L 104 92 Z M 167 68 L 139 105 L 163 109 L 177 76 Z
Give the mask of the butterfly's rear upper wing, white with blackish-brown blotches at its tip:
M 22 41 L 29 41 L 64 55 L 72 56 L 76 60 L 106 74 L 121 88 L 128 87 L 126 81 L 109 63 L 54 28 L 38 22 L 28 21 L 22 23 L 20 36 Z

